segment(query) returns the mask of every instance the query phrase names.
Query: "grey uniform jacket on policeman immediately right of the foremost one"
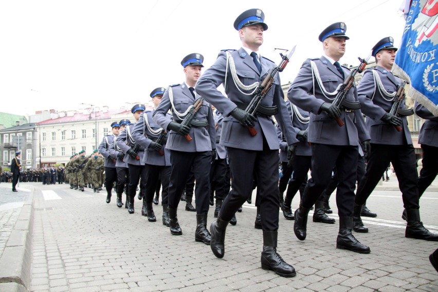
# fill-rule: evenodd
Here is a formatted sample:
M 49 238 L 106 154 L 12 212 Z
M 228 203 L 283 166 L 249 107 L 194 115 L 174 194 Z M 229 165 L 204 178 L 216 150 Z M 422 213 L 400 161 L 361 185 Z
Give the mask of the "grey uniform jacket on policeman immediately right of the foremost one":
M 332 103 L 332 100 L 324 96 L 321 87 L 312 74 L 311 60 L 315 62 L 321 76 L 321 82 L 327 92 L 334 92 L 338 85 L 343 82 L 343 78 L 336 70 L 335 65 L 330 63 L 326 57 L 321 56 L 320 59 L 307 59 L 304 61 L 297 77 L 287 91 L 287 98 L 299 108 L 311 112 L 307 141 L 327 145 L 358 146 L 360 142 L 369 140 L 370 136 L 360 110 L 351 112 L 342 110 L 340 119 L 345 124 L 342 127 L 337 124 L 336 120 L 329 118 L 325 112 L 319 112 L 324 102 Z M 349 70 L 345 67 L 342 68 L 344 75 L 347 76 L 350 73 Z M 332 99 L 334 97 L 335 95 L 331 96 Z M 350 89 L 346 99 L 358 101 L 356 87 Z

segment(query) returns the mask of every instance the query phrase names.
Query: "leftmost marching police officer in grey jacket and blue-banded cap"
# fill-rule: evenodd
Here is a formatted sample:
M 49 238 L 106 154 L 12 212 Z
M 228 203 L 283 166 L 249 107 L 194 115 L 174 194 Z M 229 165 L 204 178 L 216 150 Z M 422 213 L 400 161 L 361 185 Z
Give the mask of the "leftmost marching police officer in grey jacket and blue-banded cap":
M 111 124 L 112 134 L 103 137 L 98 150 L 99 153 L 105 158 L 105 188 L 106 188 L 106 203 L 111 202 L 111 192 L 113 190 L 113 183 L 117 182 L 116 172 L 116 158 L 108 152 L 109 145 L 113 142 L 114 138 L 120 133 L 120 124 L 113 122 Z

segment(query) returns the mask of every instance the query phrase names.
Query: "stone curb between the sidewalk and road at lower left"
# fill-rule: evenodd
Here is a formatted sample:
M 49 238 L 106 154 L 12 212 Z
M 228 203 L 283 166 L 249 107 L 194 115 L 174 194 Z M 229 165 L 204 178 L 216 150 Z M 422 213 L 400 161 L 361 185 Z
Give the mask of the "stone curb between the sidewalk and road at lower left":
M 30 288 L 33 235 L 33 193 L 23 204 L 0 259 L 0 291 L 27 292 Z

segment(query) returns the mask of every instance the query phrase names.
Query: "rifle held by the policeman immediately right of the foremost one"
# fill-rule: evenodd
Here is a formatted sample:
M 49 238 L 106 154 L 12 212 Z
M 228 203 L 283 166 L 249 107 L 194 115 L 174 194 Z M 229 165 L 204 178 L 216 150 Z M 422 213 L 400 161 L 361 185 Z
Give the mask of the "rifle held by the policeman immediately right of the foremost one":
M 338 93 L 336 94 L 335 99 L 333 100 L 332 104 L 337 106 L 339 109 L 342 107 L 348 108 L 348 109 L 359 109 L 360 108 L 360 102 L 359 101 L 348 101 L 346 100 L 346 95 L 349 92 L 350 88 L 354 85 L 354 76 L 357 73 L 362 73 L 362 71 L 365 69 L 365 67 L 368 65 L 368 61 L 370 60 L 371 52 L 368 55 L 366 59 L 360 59 L 359 66 L 357 66 L 356 69 L 350 72 L 350 74 L 345 78 L 344 82 L 341 84 L 341 86 L 338 89 Z M 336 118 L 336 122 L 338 123 L 339 127 L 342 127 L 344 125 L 344 122 L 342 122 L 341 118 Z

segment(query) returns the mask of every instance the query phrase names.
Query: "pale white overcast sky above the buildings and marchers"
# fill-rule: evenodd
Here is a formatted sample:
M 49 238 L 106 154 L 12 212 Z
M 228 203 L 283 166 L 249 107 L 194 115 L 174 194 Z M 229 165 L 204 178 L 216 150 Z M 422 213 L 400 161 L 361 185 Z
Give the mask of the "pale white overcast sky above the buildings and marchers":
M 268 30 L 260 53 L 293 81 L 308 57 L 319 57 L 319 33 L 344 22 L 350 40 L 341 63 L 357 65 L 382 37 L 401 41 L 402 0 L 314 1 L 2 1 L 0 2 L 1 112 L 131 107 L 150 101 L 156 87 L 184 82 L 180 61 L 189 53 L 212 65 L 222 49 L 238 49 L 235 18 L 262 9 Z M 126 104 L 127 103 L 127 104 Z

